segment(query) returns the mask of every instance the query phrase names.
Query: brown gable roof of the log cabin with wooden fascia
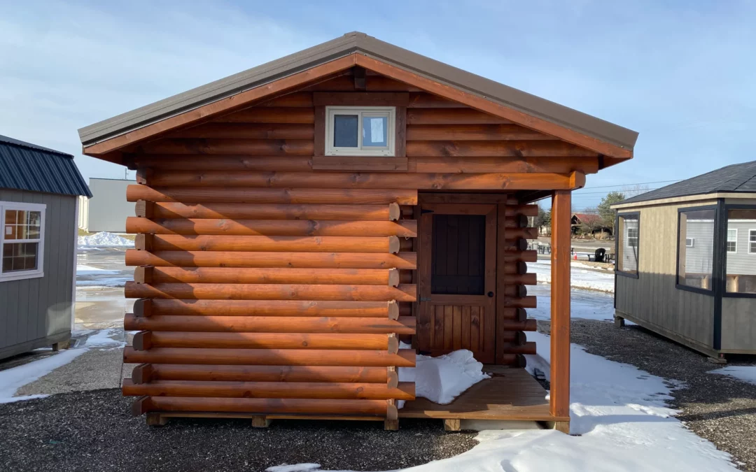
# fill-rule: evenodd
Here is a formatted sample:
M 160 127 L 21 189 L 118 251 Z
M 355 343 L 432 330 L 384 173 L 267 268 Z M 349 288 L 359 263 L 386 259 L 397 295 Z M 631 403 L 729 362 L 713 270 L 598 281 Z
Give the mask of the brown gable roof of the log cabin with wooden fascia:
M 362 32 L 347 33 L 321 45 L 85 126 L 79 129 L 79 137 L 84 147 L 89 147 L 200 106 L 234 97 L 253 88 L 355 54 L 379 60 L 389 66 L 507 106 L 527 116 L 567 128 L 621 150 L 631 152 L 637 140 L 638 134 L 635 131 L 398 48 Z

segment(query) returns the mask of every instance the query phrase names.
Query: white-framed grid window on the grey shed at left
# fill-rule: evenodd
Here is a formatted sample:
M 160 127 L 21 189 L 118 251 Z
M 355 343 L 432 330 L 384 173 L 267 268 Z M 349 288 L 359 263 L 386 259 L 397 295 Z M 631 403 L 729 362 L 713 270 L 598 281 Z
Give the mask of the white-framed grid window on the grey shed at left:
M 46 208 L 39 203 L 0 202 L 0 282 L 45 275 Z

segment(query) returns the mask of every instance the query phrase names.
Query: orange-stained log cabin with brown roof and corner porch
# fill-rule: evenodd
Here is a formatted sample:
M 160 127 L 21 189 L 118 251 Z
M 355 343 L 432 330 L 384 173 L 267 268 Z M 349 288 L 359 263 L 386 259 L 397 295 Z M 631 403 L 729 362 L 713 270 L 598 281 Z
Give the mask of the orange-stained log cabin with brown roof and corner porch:
M 636 132 L 352 32 L 79 135 L 138 175 L 125 329 L 139 332 L 124 350 L 138 366 L 122 391 L 148 424 L 569 430 L 571 193 L 631 159 Z M 528 217 L 547 197 L 549 400 L 524 369 Z M 417 353 L 459 349 L 494 376 L 451 405 L 398 381 Z

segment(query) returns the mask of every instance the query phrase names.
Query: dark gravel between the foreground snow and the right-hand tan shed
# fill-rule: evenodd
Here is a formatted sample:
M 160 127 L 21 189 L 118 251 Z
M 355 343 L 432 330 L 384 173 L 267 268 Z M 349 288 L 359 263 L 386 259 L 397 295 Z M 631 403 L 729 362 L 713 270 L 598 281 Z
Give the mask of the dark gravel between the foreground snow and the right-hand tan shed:
M 538 325 L 539 331 L 549 331 L 548 322 Z M 708 373 L 722 366 L 637 325 L 618 329 L 612 322 L 573 320 L 572 342 L 588 353 L 683 381 L 670 402 L 682 410 L 677 418 L 718 449 L 730 452 L 742 470 L 756 471 L 756 385 Z M 754 365 L 754 360 L 742 357 L 730 363 L 739 364 Z

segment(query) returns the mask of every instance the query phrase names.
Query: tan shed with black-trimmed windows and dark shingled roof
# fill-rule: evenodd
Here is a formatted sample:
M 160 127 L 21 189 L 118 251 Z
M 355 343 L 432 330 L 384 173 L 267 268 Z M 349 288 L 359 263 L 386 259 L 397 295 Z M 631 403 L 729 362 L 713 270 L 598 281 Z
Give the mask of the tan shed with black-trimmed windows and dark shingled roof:
M 756 161 L 612 208 L 615 319 L 717 359 L 756 354 Z

